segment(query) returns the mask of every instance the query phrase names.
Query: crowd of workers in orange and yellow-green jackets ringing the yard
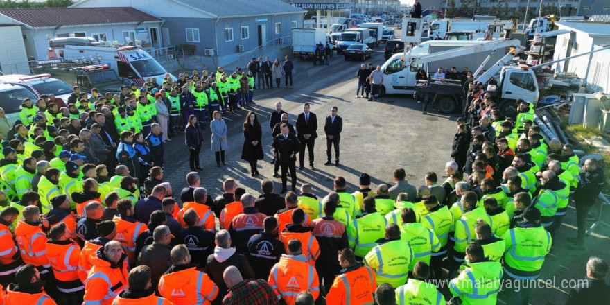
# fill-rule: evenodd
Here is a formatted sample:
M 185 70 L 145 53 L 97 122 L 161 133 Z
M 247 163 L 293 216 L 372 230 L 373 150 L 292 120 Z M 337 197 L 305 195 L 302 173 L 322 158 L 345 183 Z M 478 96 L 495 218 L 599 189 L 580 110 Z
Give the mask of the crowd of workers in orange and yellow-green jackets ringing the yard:
M 218 78 L 226 78 L 222 68 Z M 429 172 L 416 187 L 397 168 L 394 186 L 372 189 L 363 173 L 360 188 L 348 191 L 336 177 L 333 191 L 317 198 L 310 184 L 281 197 L 265 179 L 255 198 L 227 179 L 214 199 L 193 171 L 176 200 L 163 179 L 163 143 L 181 122 L 170 119 L 162 130 L 152 100 L 168 99 L 169 116 L 177 109 L 185 119 L 225 111 L 210 99 L 223 94 L 214 82 L 207 93 L 193 79 L 180 76 L 180 96 L 170 80 L 166 90 L 94 91 L 93 103 L 75 87 L 65 110 L 42 98 L 37 107 L 24 103 L 0 156 L 0 302 L 496 304 L 504 279 L 523 283 L 503 290 L 507 304 L 528 304 L 526 282 L 539 277 L 570 200 L 578 234 L 568 241 L 584 249 L 602 166 L 586 159 L 581 168 L 573 146 L 544 143 L 529 103 L 504 118 L 482 89 L 473 89 L 468 117 L 458 119 L 444 182 Z M 591 258 L 591 284 L 568 304 L 607 296 L 607 269 Z

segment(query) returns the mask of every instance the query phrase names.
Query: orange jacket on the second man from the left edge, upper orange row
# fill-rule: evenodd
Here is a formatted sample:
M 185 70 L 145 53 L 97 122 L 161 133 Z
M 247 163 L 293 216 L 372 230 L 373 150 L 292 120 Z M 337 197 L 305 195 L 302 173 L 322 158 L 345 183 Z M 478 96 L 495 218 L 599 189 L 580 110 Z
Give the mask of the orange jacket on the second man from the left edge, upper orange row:
M 36 267 L 51 267 L 49 259 L 46 258 L 46 234 L 42 232 L 41 227 L 20 220 L 15 228 L 15 238 L 24 263 Z

